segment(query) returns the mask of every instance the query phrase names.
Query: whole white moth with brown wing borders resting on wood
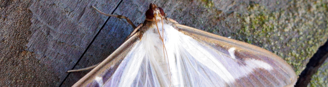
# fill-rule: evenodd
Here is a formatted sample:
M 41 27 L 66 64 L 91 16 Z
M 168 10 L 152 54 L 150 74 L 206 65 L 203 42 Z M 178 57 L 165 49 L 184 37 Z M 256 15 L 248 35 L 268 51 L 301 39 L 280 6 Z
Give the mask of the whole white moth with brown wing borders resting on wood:
M 272 52 L 181 25 L 155 4 L 149 5 L 145 21 L 138 26 L 127 17 L 105 15 L 126 19 L 134 30 L 73 87 L 289 87 L 296 83 L 291 66 Z

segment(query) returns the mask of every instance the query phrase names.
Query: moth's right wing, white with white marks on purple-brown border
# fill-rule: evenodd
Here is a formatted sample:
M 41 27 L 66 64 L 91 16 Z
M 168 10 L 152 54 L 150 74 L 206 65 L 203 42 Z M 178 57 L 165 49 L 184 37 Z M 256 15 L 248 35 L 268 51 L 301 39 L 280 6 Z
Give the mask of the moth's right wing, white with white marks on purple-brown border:
M 239 41 L 220 43 L 215 39 L 210 40 L 209 36 L 193 36 L 191 34 L 195 33 L 183 31 L 181 26 L 175 27 L 178 29 L 164 25 L 164 35 L 167 38 L 165 46 L 169 64 L 173 66 L 171 69 L 179 72 L 172 74 L 172 77 L 176 77 L 173 80 L 177 85 L 281 87 L 296 82 L 291 67 L 271 52 L 248 51 L 252 49 L 234 46 L 234 43 L 241 43 Z M 253 49 L 263 50 L 258 47 Z M 282 63 L 279 63 L 281 60 Z

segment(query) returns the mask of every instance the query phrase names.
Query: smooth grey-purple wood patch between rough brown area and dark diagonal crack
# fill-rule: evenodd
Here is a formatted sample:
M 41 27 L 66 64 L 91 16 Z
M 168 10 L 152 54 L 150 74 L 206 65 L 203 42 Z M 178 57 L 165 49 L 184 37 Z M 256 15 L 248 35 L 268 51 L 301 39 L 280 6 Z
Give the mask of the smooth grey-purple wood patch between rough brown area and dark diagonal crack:
M 56 74 L 59 82 L 77 63 L 108 17 L 96 14 L 94 6 L 112 12 L 119 1 L 33 1 L 32 36 L 27 51 L 36 54 Z M 103 4 L 105 3 L 105 4 Z

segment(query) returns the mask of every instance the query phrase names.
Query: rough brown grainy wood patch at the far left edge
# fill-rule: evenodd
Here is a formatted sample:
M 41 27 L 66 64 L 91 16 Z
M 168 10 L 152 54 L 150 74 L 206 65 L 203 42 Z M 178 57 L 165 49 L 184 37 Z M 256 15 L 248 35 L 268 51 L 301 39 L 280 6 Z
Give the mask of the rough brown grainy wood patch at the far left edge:
M 0 87 L 56 86 L 56 74 L 24 51 L 31 37 L 30 1 L 0 0 Z

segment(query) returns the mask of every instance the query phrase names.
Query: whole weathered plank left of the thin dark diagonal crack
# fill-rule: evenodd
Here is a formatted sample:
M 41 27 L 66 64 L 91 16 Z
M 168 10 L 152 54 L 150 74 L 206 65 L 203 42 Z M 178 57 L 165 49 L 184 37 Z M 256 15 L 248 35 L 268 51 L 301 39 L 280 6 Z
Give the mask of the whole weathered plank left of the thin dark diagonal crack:
M 3 52 L 11 53 L 12 57 L 0 56 L 3 60 L 1 62 L 12 61 L 14 65 L 1 65 L 7 66 L 4 73 L 1 73 L 1 76 L 7 78 L 0 84 L 3 86 L 47 87 L 58 86 L 66 78 L 68 75 L 66 71 L 72 69 L 107 20 L 108 17 L 96 14 L 91 5 L 101 6 L 100 8 L 104 12 L 112 12 L 119 1 L 6 0 L 2 2 L 5 2 L 5 5 L 1 6 L 1 9 L 4 9 L 1 12 L 5 14 L 1 14 L 1 19 L 5 22 L 1 23 L 10 27 L 5 27 L 9 33 L 5 31 L 1 37 L 5 36 L 6 38 L 1 39 L 12 42 L 14 45 L 1 47 L 6 47 L 5 50 L 8 50 L 11 48 L 7 47 L 19 46 L 17 46 L 17 50 L 12 49 L 13 52 L 10 50 Z M 16 16 L 17 14 L 18 16 Z M 21 20 L 28 23 L 19 23 Z M 24 40 L 20 38 L 24 38 Z M 13 55 L 17 54 L 16 51 L 19 54 L 17 57 Z

